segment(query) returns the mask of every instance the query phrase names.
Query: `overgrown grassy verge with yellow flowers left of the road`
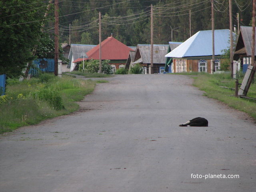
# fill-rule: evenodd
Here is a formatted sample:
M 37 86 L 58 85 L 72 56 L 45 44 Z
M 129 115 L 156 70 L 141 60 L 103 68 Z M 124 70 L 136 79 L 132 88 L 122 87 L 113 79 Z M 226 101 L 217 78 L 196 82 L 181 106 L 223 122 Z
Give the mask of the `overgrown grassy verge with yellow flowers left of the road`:
M 36 124 L 47 118 L 78 110 L 76 101 L 94 90 L 95 82 L 52 74 L 31 80 L 8 80 L 6 95 L 0 96 L 0 133 Z

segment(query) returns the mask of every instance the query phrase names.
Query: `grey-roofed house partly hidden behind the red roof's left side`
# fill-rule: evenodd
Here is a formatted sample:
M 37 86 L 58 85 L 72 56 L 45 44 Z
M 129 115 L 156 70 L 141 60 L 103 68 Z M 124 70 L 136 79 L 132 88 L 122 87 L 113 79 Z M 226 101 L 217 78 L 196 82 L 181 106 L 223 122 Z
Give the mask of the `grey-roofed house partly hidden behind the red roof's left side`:
M 86 57 L 86 52 L 90 51 L 96 45 L 84 45 L 84 44 L 71 44 L 70 52 L 68 55 L 69 63 L 67 68 L 73 71 L 76 65 L 73 63 L 78 58 Z

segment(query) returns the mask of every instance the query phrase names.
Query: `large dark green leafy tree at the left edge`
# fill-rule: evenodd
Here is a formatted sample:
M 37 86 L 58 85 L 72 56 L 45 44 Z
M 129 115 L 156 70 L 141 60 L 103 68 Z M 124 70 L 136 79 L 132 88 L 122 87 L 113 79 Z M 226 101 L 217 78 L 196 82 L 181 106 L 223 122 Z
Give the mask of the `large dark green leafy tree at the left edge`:
M 0 1 L 0 74 L 18 77 L 35 58 L 32 49 L 42 34 L 43 5 L 37 0 Z

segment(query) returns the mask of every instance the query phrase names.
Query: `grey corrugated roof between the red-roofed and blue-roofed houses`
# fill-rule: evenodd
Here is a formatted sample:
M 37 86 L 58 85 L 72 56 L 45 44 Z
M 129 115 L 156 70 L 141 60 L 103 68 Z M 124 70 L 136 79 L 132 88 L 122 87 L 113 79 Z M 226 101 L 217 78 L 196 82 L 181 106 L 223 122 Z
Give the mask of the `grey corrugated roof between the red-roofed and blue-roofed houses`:
M 165 64 L 166 58 L 164 57 L 168 52 L 169 45 L 153 45 L 153 63 Z M 137 51 L 140 51 L 140 56 L 143 63 L 150 63 L 151 61 L 151 45 L 150 44 L 138 44 Z

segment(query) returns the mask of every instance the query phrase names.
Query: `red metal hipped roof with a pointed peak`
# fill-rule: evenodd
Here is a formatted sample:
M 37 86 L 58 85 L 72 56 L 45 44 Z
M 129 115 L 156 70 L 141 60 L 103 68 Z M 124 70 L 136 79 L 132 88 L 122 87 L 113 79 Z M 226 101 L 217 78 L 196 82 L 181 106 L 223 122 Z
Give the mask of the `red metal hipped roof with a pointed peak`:
M 84 58 L 84 60 L 99 59 L 99 48 L 100 45 L 98 44 L 96 47 L 86 52 L 88 58 Z M 112 36 L 101 42 L 102 60 L 127 60 L 129 51 L 133 50 Z M 82 60 L 83 58 L 78 58 L 73 63 L 80 62 Z

